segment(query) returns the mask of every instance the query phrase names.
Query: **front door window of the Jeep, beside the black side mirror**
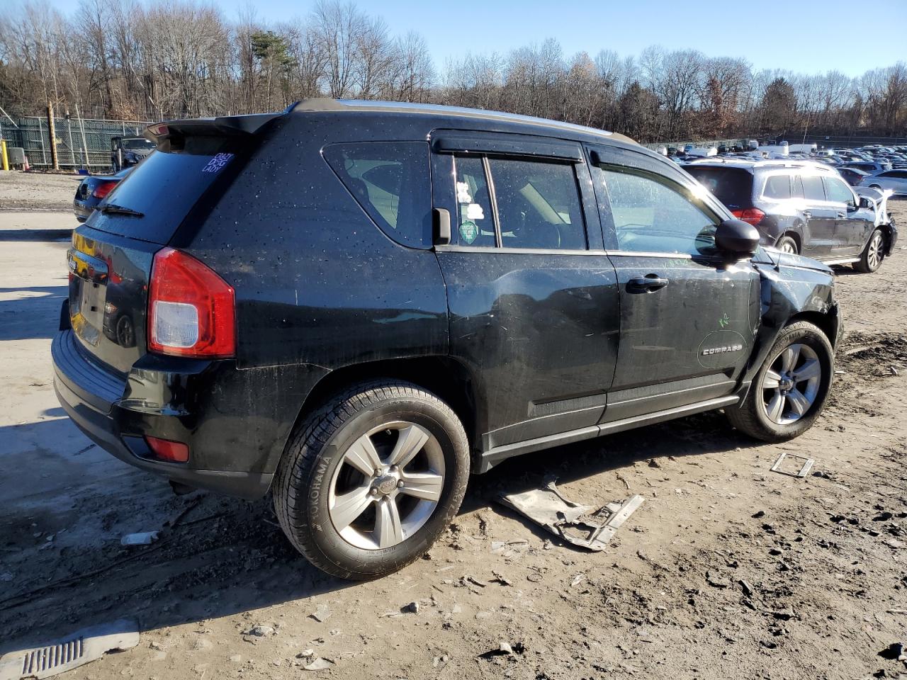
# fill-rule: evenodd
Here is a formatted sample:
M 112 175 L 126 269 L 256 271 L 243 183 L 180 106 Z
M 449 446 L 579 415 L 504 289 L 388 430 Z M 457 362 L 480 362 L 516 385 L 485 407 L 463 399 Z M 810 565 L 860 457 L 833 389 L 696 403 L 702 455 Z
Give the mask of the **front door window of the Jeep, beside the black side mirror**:
M 600 173 L 600 175 L 598 175 Z M 717 217 L 668 180 L 600 169 L 620 250 L 711 255 Z

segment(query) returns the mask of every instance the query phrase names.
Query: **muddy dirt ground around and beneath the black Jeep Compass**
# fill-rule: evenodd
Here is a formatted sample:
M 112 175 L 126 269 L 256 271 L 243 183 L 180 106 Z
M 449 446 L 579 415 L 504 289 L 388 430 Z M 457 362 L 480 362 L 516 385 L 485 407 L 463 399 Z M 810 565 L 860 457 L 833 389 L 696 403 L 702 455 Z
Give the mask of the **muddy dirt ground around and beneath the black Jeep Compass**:
M 895 211 L 907 225 L 907 202 Z M 710 413 L 507 461 L 473 478 L 428 559 L 352 584 L 309 567 L 268 501 L 178 498 L 92 447 L 50 383 L 65 244 L 8 245 L 0 652 L 135 617 L 139 646 L 66 677 L 907 674 L 879 656 L 907 636 L 903 248 L 875 275 L 839 271 L 843 373 L 800 439 L 756 444 Z M 780 452 L 813 457 L 814 474 L 769 471 Z M 583 552 L 495 502 L 549 476 L 581 503 L 646 502 L 610 549 Z M 155 529 L 151 546 L 120 545 Z M 273 632 L 246 634 L 258 624 Z M 502 642 L 514 652 L 494 654 Z M 314 657 L 327 669 L 305 670 Z

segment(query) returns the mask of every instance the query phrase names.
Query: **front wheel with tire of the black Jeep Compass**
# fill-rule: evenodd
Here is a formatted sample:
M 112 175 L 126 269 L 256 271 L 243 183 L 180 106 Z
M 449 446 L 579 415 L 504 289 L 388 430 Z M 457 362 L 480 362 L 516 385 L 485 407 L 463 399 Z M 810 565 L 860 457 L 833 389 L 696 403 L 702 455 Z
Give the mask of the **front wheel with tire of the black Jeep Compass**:
M 786 326 L 756 373 L 746 399 L 726 409 L 737 430 L 764 442 L 803 434 L 822 412 L 834 375 L 834 350 L 807 321 Z

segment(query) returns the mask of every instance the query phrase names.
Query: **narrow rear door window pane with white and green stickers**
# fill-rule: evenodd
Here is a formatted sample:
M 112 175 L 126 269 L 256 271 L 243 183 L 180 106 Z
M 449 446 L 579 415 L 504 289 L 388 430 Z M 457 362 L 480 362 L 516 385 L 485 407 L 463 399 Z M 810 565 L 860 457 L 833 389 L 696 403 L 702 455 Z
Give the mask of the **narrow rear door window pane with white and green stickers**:
M 453 162 L 456 166 L 457 228 L 451 235 L 451 243 L 494 248 L 494 216 L 484 162 L 476 156 L 457 156 Z

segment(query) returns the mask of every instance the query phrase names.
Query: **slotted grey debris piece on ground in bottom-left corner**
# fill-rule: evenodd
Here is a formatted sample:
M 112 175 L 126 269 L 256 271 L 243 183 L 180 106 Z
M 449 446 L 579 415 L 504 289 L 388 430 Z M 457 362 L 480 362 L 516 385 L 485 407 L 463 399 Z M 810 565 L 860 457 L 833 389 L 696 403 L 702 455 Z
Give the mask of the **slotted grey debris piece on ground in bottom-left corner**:
M 138 624 L 122 618 L 85 628 L 48 646 L 0 656 L 0 680 L 20 680 L 24 677 L 41 680 L 96 661 L 106 652 L 131 649 L 138 644 Z

